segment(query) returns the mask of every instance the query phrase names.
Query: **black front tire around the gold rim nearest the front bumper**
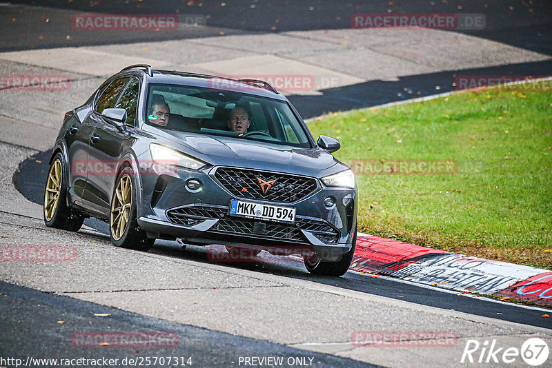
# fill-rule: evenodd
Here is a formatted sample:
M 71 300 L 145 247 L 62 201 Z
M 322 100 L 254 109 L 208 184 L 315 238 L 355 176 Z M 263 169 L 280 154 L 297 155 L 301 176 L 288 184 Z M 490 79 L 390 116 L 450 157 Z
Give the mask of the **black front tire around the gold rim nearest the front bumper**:
M 118 212 L 114 212 L 114 209 L 116 208 L 115 205 L 119 203 L 117 190 L 119 190 L 119 183 L 121 183 L 121 179 L 124 179 L 124 181 L 130 181 L 130 194 L 127 197 L 127 199 L 130 201 L 130 209 L 126 211 L 126 208 L 129 207 L 124 207 L 125 209 L 121 210 L 121 216 L 124 216 L 124 218 L 128 216 L 128 218 L 125 220 L 124 225 L 121 226 L 124 228 L 122 234 L 117 232 L 117 229 L 120 229 L 121 227 L 117 226 L 119 217 L 117 217 L 116 214 Z M 153 243 L 155 243 L 155 239 L 148 238 L 146 232 L 144 232 L 144 230 L 140 229 L 140 227 L 138 226 L 136 216 L 137 196 L 135 188 L 137 188 L 137 186 L 134 179 L 134 173 L 132 172 L 132 169 L 130 167 L 125 167 L 124 170 L 121 171 L 121 174 L 117 176 L 117 181 L 115 181 L 115 190 L 113 190 L 113 194 L 111 197 L 109 236 L 111 238 L 111 243 L 115 245 L 115 247 L 136 249 L 147 252 L 152 247 Z M 125 212 L 126 215 L 123 212 Z

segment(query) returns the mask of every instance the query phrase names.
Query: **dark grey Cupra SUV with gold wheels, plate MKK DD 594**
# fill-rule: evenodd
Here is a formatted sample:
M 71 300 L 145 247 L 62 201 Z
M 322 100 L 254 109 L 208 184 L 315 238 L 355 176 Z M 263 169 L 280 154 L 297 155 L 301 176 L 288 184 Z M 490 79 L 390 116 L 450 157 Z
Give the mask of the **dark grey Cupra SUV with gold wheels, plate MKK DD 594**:
M 44 221 L 77 231 L 93 216 L 114 245 L 156 238 L 253 255 L 302 254 L 313 274 L 353 258 L 351 169 L 313 139 L 285 96 L 257 80 L 131 65 L 66 113 L 46 184 Z

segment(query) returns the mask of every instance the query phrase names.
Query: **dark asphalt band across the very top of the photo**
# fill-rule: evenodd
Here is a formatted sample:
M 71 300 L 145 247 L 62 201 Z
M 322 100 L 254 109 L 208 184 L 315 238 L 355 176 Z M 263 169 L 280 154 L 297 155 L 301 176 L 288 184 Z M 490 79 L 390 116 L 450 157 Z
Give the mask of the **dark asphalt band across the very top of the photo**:
M 0 45 L 6 50 L 52 48 L 72 45 L 100 45 L 128 43 L 143 40 L 182 39 L 208 37 L 224 32 L 289 32 L 297 30 L 330 30 L 351 28 L 353 14 L 363 13 L 444 13 L 484 14 L 483 30 L 463 30 L 484 37 L 517 45 L 527 50 L 552 54 L 550 43 L 552 4 L 546 0 L 449 0 L 449 1 L 89 1 L 89 0 L 23 0 L 12 1 L 33 6 L 47 6 L 63 10 L 107 14 L 201 14 L 210 30 L 188 28 L 182 32 L 77 32 L 60 19 L 51 18 L 48 12 L 23 10 L 19 19 L 10 20 L 11 32 L 0 34 Z M 48 22 L 44 19 L 48 18 Z M 30 19 L 40 20 L 28 23 Z M 43 35 L 41 39 L 39 35 Z M 70 39 L 66 39 L 69 35 Z M 226 35 L 228 35 L 226 33 Z M 14 37 L 19 36 L 19 37 Z M 103 36 L 103 37 L 102 37 Z

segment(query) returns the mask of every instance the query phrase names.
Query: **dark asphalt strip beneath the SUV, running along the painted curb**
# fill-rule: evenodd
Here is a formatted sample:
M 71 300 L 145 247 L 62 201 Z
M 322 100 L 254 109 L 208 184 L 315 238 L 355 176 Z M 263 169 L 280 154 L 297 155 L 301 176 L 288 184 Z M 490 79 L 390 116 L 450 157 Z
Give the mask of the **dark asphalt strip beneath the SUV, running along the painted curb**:
M 19 170 L 17 170 L 13 178 L 13 182 L 21 194 L 39 205 L 43 204 L 43 187 L 46 186 L 50 156 L 50 151 L 30 156 L 19 165 Z M 85 223 L 97 229 L 108 238 L 109 229 L 106 223 L 98 221 L 95 218 L 88 218 Z M 210 263 L 206 250 L 202 247 L 188 246 L 188 249 L 184 252 L 175 243 L 157 241 L 156 247 L 150 252 L 164 256 L 195 260 L 201 263 Z M 325 285 L 333 285 L 375 296 L 405 300 L 420 305 L 452 309 L 477 316 L 522 323 L 524 325 L 552 328 L 549 320 L 542 318 L 542 314 L 544 313 L 542 309 L 526 309 L 510 303 L 490 300 L 489 298 L 460 295 L 456 292 L 444 292 L 437 288 L 428 288 L 404 281 L 400 282 L 385 276 L 373 278 L 357 272 L 348 272 L 346 276 L 341 278 L 314 277 L 306 272 L 302 262 L 293 262 L 288 258 L 282 259 L 273 263 L 227 263 L 226 265 L 228 267 L 239 267 L 264 274 L 277 274 L 302 280 L 315 280 L 315 282 Z

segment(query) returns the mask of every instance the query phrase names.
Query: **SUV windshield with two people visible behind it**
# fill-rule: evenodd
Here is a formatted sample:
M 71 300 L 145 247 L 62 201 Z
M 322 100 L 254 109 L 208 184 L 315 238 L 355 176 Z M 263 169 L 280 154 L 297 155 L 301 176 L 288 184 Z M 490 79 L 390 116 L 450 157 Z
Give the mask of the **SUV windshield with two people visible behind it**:
M 145 121 L 168 130 L 311 147 L 288 103 L 237 91 L 150 84 Z

